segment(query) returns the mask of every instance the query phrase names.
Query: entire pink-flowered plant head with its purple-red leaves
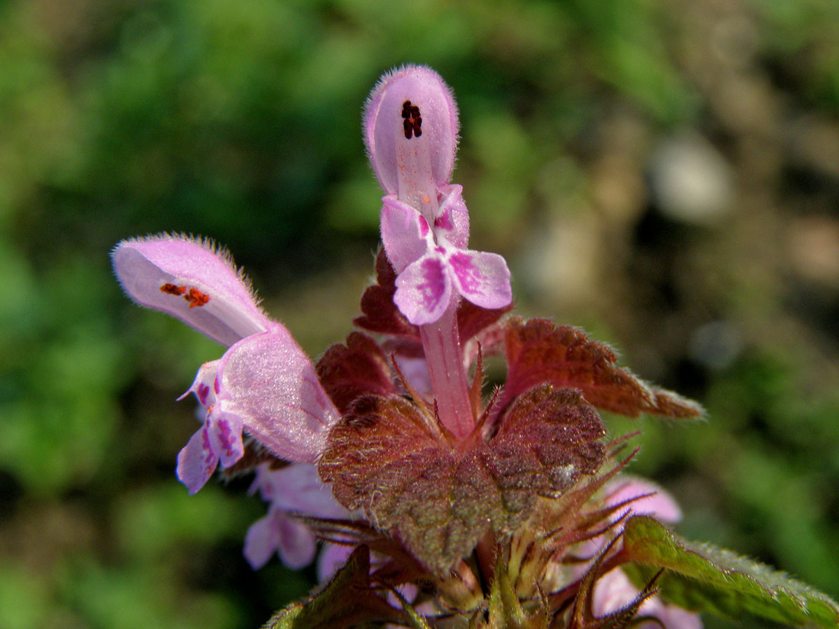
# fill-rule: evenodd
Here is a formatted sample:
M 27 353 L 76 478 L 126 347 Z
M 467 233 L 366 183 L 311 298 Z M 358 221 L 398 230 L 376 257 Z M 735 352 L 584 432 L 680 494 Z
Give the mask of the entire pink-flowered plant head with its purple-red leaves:
M 655 594 L 660 574 L 644 566 L 681 561 L 690 583 L 716 582 L 660 523 L 679 519 L 675 502 L 621 480 L 634 453 L 607 439 L 598 411 L 701 408 L 638 380 L 579 330 L 508 315 L 503 257 L 467 247 L 450 183 L 458 128 L 451 91 L 428 68 L 393 70 L 373 90 L 363 130 L 386 193 L 383 250 L 358 330 L 316 365 L 209 242 L 117 245 L 132 299 L 227 348 L 187 392 L 203 422 L 178 477 L 194 493 L 219 465 L 254 471 L 268 502 L 245 540 L 254 568 L 274 553 L 302 567 L 315 537 L 327 543 L 328 584 L 272 626 L 700 627 Z M 494 393 L 482 389 L 490 353 L 507 365 Z M 734 571 L 720 571 L 730 583 Z

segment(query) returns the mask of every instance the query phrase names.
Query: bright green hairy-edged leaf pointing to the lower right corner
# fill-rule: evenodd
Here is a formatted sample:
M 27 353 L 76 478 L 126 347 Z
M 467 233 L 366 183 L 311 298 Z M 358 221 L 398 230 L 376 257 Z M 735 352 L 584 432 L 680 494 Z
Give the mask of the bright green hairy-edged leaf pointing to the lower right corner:
M 623 548 L 639 564 L 624 567 L 636 585 L 665 568 L 661 595 L 687 609 L 733 618 L 749 613 L 795 626 L 839 625 L 839 606 L 828 596 L 729 550 L 686 542 L 651 517 L 627 521 Z

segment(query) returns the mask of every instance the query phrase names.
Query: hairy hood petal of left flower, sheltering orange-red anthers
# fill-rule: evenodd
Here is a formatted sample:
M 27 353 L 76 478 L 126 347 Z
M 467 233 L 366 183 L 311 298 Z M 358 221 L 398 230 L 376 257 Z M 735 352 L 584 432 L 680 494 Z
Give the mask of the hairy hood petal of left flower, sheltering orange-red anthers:
M 112 263 L 131 299 L 224 346 L 268 327 L 247 281 L 209 242 L 174 236 L 126 240 L 114 248 Z

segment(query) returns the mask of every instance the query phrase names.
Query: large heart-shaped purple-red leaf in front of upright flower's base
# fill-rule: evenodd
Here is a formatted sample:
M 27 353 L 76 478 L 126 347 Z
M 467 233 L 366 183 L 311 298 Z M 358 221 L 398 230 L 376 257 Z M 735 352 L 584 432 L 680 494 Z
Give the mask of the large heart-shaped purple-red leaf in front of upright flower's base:
M 605 459 L 597 411 L 573 389 L 535 387 L 489 441 L 457 450 L 411 401 L 368 396 L 331 429 L 320 458 L 338 502 L 362 509 L 436 573 L 492 528 L 503 537 L 537 496 L 558 496 Z

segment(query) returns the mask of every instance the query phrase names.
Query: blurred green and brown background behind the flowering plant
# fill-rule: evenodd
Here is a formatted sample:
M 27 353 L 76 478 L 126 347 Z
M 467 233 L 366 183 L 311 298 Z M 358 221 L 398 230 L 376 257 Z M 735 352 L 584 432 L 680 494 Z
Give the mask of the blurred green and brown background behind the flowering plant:
M 175 480 L 221 349 L 107 252 L 213 237 L 320 355 L 378 246 L 360 108 L 404 62 L 456 91 L 519 313 L 706 404 L 610 419 L 680 531 L 839 596 L 837 31 L 831 0 L 0 2 L 0 627 L 255 627 L 306 591 L 242 559 L 247 482 Z

